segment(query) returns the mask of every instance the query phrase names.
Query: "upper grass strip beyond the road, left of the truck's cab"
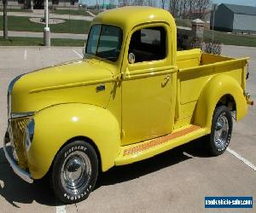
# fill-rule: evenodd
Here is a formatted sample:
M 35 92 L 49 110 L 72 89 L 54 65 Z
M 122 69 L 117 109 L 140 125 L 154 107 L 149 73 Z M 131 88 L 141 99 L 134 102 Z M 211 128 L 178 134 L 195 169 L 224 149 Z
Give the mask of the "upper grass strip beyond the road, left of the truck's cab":
M 3 23 L 3 16 L 0 16 L 0 23 Z M 89 32 L 90 21 L 87 20 L 65 20 L 64 23 L 49 25 L 50 32 L 84 34 Z M 43 32 L 44 24 L 35 23 L 28 17 L 8 17 L 9 31 Z M 0 31 L 3 25 L 0 24 Z

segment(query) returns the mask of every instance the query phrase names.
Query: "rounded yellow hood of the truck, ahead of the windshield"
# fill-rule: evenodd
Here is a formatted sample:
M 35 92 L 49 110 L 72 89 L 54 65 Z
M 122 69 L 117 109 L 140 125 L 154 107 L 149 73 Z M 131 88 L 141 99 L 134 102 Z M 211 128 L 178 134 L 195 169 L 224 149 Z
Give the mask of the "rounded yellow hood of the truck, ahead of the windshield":
M 11 91 L 11 112 L 38 112 L 62 103 L 107 107 L 113 74 L 100 61 L 78 60 L 27 73 Z

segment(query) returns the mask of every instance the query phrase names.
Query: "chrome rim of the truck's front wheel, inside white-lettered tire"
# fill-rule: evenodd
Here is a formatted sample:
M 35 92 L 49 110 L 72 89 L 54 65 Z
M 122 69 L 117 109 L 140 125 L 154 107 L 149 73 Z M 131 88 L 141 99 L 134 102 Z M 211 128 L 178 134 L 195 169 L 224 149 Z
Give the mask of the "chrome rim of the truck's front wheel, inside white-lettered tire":
M 70 153 L 61 167 L 61 184 L 69 193 L 79 194 L 88 186 L 91 176 L 90 158 L 76 151 Z

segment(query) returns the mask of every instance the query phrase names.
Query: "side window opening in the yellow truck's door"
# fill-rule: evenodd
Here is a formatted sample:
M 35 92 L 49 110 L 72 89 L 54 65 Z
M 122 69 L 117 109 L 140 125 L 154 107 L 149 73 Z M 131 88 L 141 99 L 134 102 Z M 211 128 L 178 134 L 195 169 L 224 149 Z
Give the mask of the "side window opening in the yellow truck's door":
M 166 58 L 166 29 L 163 26 L 143 28 L 131 36 L 129 54 L 135 63 Z

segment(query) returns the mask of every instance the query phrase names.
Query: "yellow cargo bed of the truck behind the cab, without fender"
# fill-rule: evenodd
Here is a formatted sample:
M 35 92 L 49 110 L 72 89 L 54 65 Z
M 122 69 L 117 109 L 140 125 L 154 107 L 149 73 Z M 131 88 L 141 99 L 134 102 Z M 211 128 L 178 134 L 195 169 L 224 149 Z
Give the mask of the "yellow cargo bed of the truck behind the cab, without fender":
M 202 53 L 201 49 L 177 52 L 177 107 L 175 129 L 193 124 L 195 105 L 206 83 L 220 73 L 235 78 L 245 89 L 247 58 L 235 59 Z

